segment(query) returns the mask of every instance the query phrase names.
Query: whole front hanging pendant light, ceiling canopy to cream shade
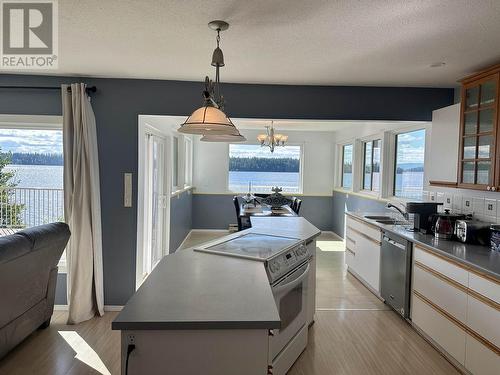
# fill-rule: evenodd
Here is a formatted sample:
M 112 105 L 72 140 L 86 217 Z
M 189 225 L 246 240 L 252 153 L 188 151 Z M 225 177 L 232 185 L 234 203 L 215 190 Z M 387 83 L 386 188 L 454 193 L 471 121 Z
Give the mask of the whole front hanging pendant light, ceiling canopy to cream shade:
M 203 107 L 195 110 L 178 129 L 181 133 L 202 134 L 213 136 L 225 135 L 241 137 L 238 129 L 231 119 L 224 113 L 224 97 L 220 92 L 219 69 L 224 66 L 224 54 L 219 47 L 220 32 L 227 30 L 229 24 L 224 21 L 212 21 L 208 26 L 217 31 L 217 48 L 212 55 L 212 66 L 215 67 L 215 83 L 208 77 L 205 78 L 205 90 L 203 91 Z M 222 142 L 222 141 L 221 141 Z M 227 142 L 227 141 L 226 141 Z

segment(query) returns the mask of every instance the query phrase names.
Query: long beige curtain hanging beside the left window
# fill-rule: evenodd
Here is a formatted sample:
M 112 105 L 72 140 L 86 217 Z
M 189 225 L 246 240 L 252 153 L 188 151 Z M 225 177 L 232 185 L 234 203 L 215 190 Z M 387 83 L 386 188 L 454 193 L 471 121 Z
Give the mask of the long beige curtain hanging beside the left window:
M 94 112 L 84 83 L 62 85 L 68 324 L 104 314 L 99 159 Z

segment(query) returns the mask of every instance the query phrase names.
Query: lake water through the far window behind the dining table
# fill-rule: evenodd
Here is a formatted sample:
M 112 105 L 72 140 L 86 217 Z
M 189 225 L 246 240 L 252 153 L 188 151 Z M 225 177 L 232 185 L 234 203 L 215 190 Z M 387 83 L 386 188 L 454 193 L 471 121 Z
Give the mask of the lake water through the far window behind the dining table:
M 275 186 L 283 188 L 284 193 L 300 193 L 298 172 L 229 172 L 229 190 L 247 193 L 249 182 L 252 182 L 252 193 L 271 194 L 271 189 Z

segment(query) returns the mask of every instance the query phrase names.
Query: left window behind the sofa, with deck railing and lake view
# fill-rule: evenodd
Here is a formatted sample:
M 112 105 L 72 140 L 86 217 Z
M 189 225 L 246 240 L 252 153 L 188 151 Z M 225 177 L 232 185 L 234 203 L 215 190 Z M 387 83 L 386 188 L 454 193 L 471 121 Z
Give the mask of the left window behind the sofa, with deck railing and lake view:
M 43 117 L 36 129 L 0 128 L 0 234 L 64 221 L 62 126 Z

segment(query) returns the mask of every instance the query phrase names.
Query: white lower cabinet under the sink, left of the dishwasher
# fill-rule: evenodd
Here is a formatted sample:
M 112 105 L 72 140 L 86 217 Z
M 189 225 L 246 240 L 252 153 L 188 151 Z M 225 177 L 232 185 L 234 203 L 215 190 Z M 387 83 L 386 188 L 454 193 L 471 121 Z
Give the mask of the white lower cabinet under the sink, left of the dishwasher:
M 380 229 L 347 216 L 346 264 L 373 292 L 380 293 Z

